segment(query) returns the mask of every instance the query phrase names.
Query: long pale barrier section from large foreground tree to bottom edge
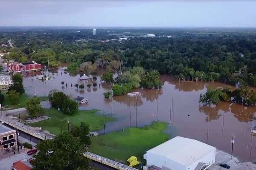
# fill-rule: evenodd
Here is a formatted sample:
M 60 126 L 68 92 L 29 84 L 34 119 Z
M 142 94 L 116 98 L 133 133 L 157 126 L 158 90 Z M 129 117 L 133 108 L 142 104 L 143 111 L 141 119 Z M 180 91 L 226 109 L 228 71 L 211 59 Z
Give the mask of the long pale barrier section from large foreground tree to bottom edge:
M 113 167 L 117 170 L 137 170 L 133 167 L 129 167 L 128 165 L 125 165 L 125 164 L 121 164 L 117 161 L 113 161 L 111 159 L 108 159 L 108 158 L 105 158 L 103 156 L 99 156 L 99 155 L 96 155 L 94 153 L 90 153 L 90 152 L 85 152 L 84 153 L 84 156 L 93 160 L 93 161 L 96 161 L 96 162 L 99 162 L 101 164 L 105 164 L 109 167 Z

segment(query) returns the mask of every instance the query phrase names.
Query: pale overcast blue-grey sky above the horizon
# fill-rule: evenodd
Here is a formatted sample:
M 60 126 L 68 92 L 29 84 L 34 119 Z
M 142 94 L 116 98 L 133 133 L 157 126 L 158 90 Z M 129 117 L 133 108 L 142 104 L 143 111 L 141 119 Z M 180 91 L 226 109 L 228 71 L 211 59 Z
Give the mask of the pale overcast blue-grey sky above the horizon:
M 256 0 L 0 0 L 0 26 L 256 27 Z

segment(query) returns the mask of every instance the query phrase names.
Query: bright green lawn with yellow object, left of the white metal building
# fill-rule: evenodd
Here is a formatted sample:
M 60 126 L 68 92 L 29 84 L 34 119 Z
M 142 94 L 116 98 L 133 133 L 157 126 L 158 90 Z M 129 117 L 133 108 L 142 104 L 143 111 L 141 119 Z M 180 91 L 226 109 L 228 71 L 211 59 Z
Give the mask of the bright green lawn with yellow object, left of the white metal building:
M 143 155 L 147 150 L 167 141 L 165 122 L 153 122 L 143 128 L 131 127 L 124 131 L 95 136 L 89 151 L 124 164 L 130 156 L 137 156 L 145 165 Z M 137 166 L 140 167 L 140 166 Z

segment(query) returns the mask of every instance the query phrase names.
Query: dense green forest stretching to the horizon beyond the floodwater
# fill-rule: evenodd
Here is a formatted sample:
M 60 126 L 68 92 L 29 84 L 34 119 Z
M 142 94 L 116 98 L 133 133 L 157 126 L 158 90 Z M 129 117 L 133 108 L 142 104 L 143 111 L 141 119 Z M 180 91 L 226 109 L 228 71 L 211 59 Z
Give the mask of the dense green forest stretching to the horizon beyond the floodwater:
M 155 34 L 156 37 L 141 35 Z M 168 36 L 168 37 L 167 37 Z M 127 37 L 128 40 L 119 40 Z M 256 86 L 256 30 L 239 28 L 170 29 L 27 29 L 0 32 L 0 44 L 12 40 L 6 59 L 35 60 L 76 72 L 84 62 L 101 68 L 143 67 L 180 81 L 220 81 Z M 109 41 L 106 41 L 109 40 Z M 238 83 L 239 82 L 239 83 Z

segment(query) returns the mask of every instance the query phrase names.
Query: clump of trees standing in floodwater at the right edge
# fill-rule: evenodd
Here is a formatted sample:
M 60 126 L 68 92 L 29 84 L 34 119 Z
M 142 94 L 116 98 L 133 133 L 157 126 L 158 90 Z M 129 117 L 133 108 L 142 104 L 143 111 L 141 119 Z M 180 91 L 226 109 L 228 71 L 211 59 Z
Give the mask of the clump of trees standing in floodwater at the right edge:
M 205 94 L 200 94 L 199 102 L 203 102 L 204 105 L 217 105 L 220 101 L 231 101 L 241 105 L 256 106 L 256 91 L 243 86 L 234 91 L 230 91 L 230 88 L 217 88 L 215 90 L 207 88 Z

